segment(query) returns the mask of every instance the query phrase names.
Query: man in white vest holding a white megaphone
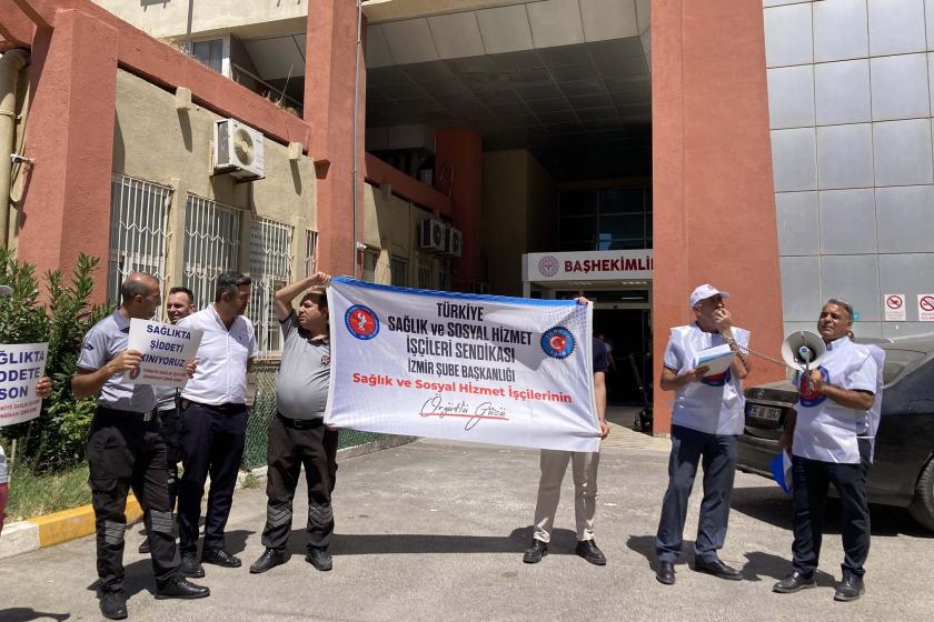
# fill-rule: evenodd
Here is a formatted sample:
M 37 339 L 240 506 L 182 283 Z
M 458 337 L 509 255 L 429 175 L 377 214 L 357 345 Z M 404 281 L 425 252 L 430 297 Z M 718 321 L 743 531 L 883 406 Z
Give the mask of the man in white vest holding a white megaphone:
M 786 423 L 782 439 L 782 444 L 792 449 L 795 540 L 792 573 L 773 586 L 778 593 L 816 585 L 824 501 L 831 482 L 839 495 L 844 549 L 843 581 L 834 600 L 853 601 L 865 591 L 863 564 L 870 552 L 866 478 L 878 427 L 885 354 L 873 345 L 854 343 L 852 328 L 853 307 L 831 299 L 817 320 L 826 352 L 821 355 L 821 341 L 808 339 L 813 333 L 807 332 L 802 333 L 799 341 L 813 358 L 798 353 L 801 348 L 791 348 L 791 359 L 784 352 L 788 364 L 799 370 L 799 398 L 796 414 Z

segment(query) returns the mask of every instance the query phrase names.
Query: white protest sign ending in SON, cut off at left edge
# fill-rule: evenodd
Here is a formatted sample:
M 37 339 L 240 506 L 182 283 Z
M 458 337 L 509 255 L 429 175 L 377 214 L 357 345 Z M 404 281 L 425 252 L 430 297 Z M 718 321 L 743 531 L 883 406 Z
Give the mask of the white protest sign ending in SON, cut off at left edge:
M 0 345 L 0 427 L 39 417 L 36 384 L 46 374 L 48 343 Z

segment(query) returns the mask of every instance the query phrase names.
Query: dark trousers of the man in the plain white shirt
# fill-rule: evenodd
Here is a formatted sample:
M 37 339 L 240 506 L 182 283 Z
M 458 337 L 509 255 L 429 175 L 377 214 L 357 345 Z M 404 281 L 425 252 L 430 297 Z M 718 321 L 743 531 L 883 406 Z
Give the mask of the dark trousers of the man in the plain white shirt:
M 205 516 L 205 551 L 223 549 L 223 528 L 234 501 L 237 472 L 247 438 L 247 407 L 199 404 L 182 400 L 178 536 L 182 554 L 198 549 L 198 523 L 205 482 L 211 476 Z

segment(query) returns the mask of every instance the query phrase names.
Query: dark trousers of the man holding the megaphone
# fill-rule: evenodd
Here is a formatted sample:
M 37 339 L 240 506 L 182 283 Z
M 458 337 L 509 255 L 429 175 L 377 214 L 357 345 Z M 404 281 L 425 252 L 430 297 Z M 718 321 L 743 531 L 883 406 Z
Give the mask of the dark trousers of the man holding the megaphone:
M 805 575 L 817 569 L 824 535 L 824 504 L 828 484 L 839 495 L 839 533 L 843 538 L 844 576 L 863 576 L 870 555 L 870 504 L 866 479 L 872 466 L 872 440 L 858 439 L 860 463 L 841 464 L 795 455 L 792 458 L 792 505 L 795 541 L 792 565 Z

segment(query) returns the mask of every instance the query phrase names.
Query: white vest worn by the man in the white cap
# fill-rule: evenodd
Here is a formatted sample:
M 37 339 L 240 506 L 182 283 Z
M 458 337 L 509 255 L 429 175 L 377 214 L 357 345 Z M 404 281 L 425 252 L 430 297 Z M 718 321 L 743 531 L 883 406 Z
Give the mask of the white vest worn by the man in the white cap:
M 749 347 L 749 334 L 745 329 L 733 327 L 733 338 L 739 348 Z M 664 365 L 675 373 L 684 373 L 694 367 L 697 352 L 723 343 L 723 335 L 705 332 L 696 323 L 673 328 L 665 348 Z M 677 389 L 672 424 L 708 434 L 742 434 L 745 404 L 742 383 L 733 370 L 727 369 Z

